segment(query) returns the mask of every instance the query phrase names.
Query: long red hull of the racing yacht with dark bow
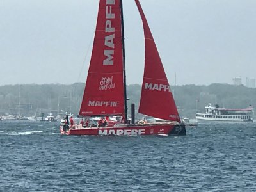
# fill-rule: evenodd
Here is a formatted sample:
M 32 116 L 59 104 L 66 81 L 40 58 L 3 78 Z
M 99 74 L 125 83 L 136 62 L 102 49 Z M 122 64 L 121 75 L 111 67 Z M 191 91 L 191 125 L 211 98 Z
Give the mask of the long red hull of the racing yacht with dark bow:
M 88 127 L 76 128 L 63 131 L 61 134 L 67 135 L 151 135 L 151 134 L 175 134 L 186 135 L 186 129 L 183 124 L 145 124 L 145 125 L 123 125 L 120 127 Z

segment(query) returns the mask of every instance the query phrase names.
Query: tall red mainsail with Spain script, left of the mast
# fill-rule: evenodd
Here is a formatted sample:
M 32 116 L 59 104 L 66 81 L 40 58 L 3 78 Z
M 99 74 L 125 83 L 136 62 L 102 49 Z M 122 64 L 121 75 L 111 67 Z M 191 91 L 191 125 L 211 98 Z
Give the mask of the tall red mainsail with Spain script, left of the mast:
M 80 116 L 124 114 L 120 1 L 100 0 Z

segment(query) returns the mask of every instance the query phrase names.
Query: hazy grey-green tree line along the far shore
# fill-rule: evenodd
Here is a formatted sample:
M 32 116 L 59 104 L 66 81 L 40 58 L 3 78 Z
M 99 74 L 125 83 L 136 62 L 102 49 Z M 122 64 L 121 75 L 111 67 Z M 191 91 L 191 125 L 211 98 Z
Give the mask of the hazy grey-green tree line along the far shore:
M 40 116 L 40 113 L 47 114 L 49 112 L 54 115 L 57 113 L 63 115 L 66 111 L 76 115 L 79 112 L 84 86 L 84 83 L 0 86 L 0 115 Z M 256 106 L 256 88 L 247 88 L 243 85 L 196 86 L 191 84 L 172 86 L 172 92 L 182 117 L 195 118 L 195 112 L 204 112 L 204 107 L 208 103 L 218 104 L 225 108 Z M 140 93 L 141 85 L 127 86 L 129 109 L 131 103 L 138 108 Z

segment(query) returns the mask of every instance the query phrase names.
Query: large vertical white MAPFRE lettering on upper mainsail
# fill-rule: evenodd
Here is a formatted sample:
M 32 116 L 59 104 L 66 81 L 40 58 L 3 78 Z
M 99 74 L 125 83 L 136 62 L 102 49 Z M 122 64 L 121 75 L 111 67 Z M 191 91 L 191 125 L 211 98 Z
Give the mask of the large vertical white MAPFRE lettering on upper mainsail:
M 113 19 L 115 19 L 115 13 L 113 13 L 112 6 L 115 5 L 115 0 L 106 0 L 106 24 L 105 24 L 105 42 L 106 49 L 104 50 L 104 56 L 106 59 L 103 61 L 103 65 L 114 65 L 114 39 L 115 39 L 115 27 L 112 25 Z

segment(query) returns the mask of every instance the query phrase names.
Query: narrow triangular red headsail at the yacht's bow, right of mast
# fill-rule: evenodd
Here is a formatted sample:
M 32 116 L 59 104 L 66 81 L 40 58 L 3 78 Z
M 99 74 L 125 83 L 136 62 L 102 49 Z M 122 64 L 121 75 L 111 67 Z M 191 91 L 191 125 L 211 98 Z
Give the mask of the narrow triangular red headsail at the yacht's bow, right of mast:
M 163 64 L 150 32 L 139 0 L 135 0 L 143 22 L 145 35 L 145 69 L 139 112 L 145 115 L 180 122 Z

